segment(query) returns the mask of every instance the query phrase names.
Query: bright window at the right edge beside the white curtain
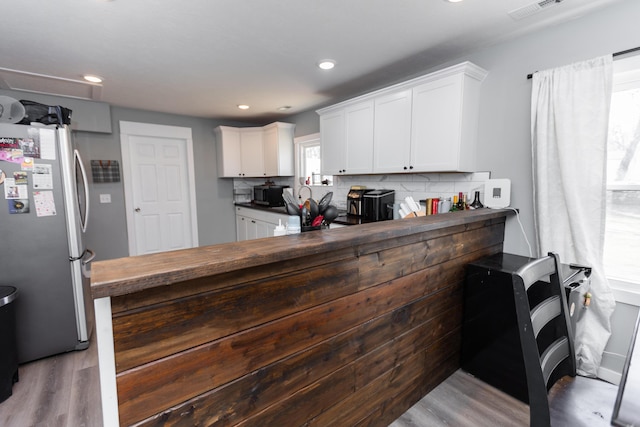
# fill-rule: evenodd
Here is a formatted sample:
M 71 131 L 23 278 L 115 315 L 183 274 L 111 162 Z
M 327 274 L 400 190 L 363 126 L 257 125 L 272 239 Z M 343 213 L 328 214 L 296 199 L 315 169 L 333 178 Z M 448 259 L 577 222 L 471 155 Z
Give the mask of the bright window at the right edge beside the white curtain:
M 604 264 L 612 285 L 640 285 L 640 56 L 614 63 Z M 615 282 L 615 283 L 614 283 Z

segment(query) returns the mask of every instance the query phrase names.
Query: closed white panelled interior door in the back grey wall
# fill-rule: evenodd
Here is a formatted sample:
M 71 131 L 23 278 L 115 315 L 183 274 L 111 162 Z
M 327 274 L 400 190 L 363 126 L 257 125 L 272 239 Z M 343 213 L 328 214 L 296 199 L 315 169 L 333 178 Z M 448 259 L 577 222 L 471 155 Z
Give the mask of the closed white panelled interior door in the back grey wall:
M 129 255 L 198 246 L 191 129 L 120 122 Z

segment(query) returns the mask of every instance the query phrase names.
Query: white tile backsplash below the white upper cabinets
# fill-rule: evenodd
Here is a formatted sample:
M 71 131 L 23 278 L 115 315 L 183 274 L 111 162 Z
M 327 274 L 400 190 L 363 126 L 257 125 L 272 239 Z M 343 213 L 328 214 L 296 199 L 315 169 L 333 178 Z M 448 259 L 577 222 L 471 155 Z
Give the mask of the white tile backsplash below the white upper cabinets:
M 480 191 L 480 200 L 484 203 L 484 182 L 491 177 L 491 172 L 472 173 L 423 173 L 423 174 L 390 174 L 390 175 L 353 175 L 334 176 L 333 185 L 312 185 L 313 198 L 319 200 L 327 192 L 333 191 L 332 204 L 339 209 L 346 209 L 347 193 L 352 185 L 364 185 L 376 190 L 394 190 L 396 201 L 412 196 L 416 202 L 428 198 L 440 197 L 453 199 L 454 195 L 463 192 L 469 201 L 473 200 L 475 191 Z M 293 187 L 294 195 L 298 196 L 300 184 L 293 177 L 271 178 L 278 185 Z M 264 184 L 263 178 L 236 178 L 233 180 L 234 198 L 253 188 L 254 185 Z M 301 191 L 302 199 L 309 197 L 307 189 Z M 243 200 L 244 201 L 244 200 Z

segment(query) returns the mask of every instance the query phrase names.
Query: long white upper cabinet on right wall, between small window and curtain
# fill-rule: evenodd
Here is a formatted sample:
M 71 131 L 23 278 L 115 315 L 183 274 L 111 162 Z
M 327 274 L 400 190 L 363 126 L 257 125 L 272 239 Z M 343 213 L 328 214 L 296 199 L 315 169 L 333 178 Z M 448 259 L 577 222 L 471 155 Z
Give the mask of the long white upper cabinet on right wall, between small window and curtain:
M 318 110 L 323 168 L 325 159 L 330 162 L 324 173 L 475 171 L 480 85 L 486 74 L 464 62 Z M 349 167 L 346 114 L 367 103 L 373 104 L 372 145 L 358 149 L 362 157 L 373 153 L 372 168 Z

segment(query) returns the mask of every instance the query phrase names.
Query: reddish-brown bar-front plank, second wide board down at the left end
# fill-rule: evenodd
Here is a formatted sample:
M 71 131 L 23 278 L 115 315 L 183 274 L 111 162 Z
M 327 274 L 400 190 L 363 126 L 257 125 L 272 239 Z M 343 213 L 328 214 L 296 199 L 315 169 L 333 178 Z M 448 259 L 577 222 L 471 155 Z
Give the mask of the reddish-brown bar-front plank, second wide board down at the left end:
M 124 414 L 144 419 L 419 298 L 422 278 L 405 276 L 125 371 L 117 376 L 121 422 L 133 421 Z

